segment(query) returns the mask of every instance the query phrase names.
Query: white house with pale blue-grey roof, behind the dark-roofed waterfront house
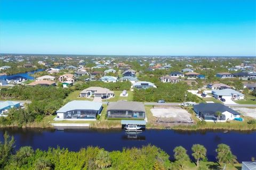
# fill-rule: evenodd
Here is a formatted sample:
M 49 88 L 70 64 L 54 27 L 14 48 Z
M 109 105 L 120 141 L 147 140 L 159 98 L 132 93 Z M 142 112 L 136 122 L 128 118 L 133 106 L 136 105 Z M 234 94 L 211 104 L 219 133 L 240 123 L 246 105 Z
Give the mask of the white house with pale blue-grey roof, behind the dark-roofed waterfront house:
M 212 90 L 212 94 L 216 99 L 226 99 L 226 100 L 243 100 L 244 94 L 233 89 L 222 89 L 222 90 Z

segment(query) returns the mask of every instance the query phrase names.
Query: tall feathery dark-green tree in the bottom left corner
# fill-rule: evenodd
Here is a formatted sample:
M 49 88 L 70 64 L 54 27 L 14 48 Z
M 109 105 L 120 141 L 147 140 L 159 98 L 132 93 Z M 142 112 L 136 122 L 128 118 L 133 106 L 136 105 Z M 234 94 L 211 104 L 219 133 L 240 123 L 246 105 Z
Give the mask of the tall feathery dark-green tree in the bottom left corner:
M 9 134 L 5 131 L 4 143 L 0 141 L 0 169 L 3 169 L 9 162 L 9 159 L 13 154 L 14 142 L 13 136 L 10 138 Z

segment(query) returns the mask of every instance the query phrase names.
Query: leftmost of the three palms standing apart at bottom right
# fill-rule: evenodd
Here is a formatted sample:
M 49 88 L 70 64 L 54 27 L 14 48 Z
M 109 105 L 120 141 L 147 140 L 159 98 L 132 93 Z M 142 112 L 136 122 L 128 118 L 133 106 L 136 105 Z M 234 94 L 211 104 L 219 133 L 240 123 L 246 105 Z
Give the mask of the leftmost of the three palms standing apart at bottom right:
M 174 152 L 175 160 L 183 168 L 183 165 L 185 164 L 185 162 L 190 160 L 187 154 L 187 150 L 182 146 L 179 146 L 179 147 L 175 147 L 173 152 Z

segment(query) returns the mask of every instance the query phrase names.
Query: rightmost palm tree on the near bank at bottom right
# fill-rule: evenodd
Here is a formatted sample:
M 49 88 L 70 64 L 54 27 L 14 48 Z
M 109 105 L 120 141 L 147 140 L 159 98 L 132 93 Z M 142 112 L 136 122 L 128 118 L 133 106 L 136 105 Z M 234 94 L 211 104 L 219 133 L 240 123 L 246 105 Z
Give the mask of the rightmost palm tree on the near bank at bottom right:
M 216 152 L 218 162 L 220 164 L 225 164 L 223 169 L 225 169 L 226 164 L 233 164 L 237 162 L 236 156 L 232 154 L 230 147 L 223 143 L 218 145 Z

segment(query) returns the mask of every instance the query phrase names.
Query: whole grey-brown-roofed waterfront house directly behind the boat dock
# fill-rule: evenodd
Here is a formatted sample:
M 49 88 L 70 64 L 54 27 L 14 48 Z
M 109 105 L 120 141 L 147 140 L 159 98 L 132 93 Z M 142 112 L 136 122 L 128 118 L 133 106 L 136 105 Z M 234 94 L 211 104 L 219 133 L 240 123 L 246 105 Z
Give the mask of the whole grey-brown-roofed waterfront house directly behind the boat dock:
M 145 118 L 145 106 L 137 101 L 111 102 L 107 108 L 108 118 Z

